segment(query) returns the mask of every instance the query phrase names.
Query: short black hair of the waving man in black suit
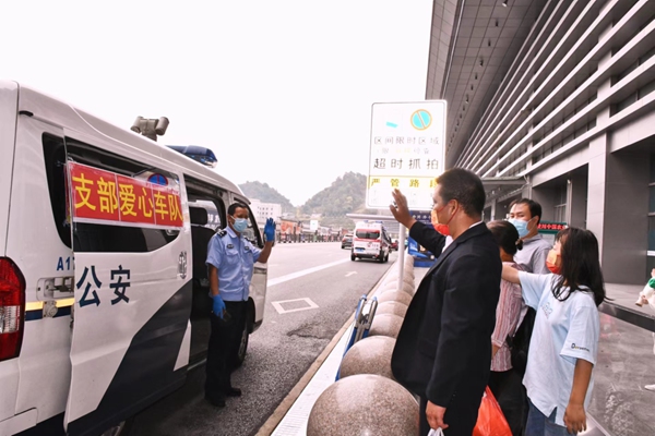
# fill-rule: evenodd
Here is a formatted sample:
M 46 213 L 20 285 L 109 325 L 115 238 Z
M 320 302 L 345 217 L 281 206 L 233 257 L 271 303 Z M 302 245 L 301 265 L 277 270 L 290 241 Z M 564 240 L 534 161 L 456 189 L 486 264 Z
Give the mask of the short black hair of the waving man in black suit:
M 445 203 L 456 199 L 467 216 L 478 218 L 483 215 L 487 196 L 483 181 L 475 172 L 464 168 L 452 168 L 439 175 L 437 183 Z

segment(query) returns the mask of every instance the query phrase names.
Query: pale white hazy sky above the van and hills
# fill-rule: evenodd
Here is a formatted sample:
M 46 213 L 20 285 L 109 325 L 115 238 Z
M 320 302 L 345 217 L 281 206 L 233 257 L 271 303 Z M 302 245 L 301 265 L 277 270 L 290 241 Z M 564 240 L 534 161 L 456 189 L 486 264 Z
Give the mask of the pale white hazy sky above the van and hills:
M 368 173 L 371 104 L 425 98 L 430 0 L 12 1 L 0 77 L 162 144 L 210 147 L 216 171 L 296 206 Z

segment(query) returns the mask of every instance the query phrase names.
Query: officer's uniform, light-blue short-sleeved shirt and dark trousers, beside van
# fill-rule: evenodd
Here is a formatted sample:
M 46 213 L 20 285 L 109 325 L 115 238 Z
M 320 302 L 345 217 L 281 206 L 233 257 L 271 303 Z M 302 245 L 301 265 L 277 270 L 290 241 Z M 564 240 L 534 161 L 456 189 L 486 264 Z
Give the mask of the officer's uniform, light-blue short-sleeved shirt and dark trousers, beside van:
M 237 395 L 230 383 L 230 374 L 246 328 L 250 281 L 260 253 L 260 249 L 242 235 L 237 235 L 229 227 L 214 234 L 207 246 L 206 265 L 218 270 L 218 292 L 227 311 L 224 319 L 211 315 L 205 398 L 216 405 L 224 405 L 226 396 Z

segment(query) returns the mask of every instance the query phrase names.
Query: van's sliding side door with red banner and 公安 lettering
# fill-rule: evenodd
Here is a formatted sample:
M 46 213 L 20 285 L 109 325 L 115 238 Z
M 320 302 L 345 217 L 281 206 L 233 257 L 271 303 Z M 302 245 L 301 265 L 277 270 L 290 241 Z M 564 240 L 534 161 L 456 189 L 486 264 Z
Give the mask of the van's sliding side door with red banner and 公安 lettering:
M 178 172 L 79 138 L 66 140 L 75 304 L 64 422 L 94 435 L 184 383 L 191 238 Z

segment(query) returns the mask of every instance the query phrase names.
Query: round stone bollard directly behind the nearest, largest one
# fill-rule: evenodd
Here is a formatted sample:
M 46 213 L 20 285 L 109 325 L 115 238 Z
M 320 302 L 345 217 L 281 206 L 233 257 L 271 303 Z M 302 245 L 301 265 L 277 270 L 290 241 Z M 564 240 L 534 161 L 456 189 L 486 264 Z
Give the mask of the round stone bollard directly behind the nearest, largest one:
M 338 371 L 340 378 L 357 374 L 377 374 L 393 380 L 391 353 L 394 346 L 395 339 L 388 336 L 369 336 L 361 339 L 344 355 Z

